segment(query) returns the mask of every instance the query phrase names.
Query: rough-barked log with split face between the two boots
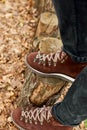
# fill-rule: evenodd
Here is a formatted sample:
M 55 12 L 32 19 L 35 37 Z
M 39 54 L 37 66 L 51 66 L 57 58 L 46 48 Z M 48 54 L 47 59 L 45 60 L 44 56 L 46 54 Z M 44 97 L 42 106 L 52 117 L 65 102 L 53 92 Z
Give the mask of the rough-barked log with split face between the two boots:
M 28 69 L 17 104 L 21 107 L 29 104 L 37 106 L 53 105 L 58 100 L 60 90 L 66 84 L 67 82 L 62 79 L 43 78 Z

